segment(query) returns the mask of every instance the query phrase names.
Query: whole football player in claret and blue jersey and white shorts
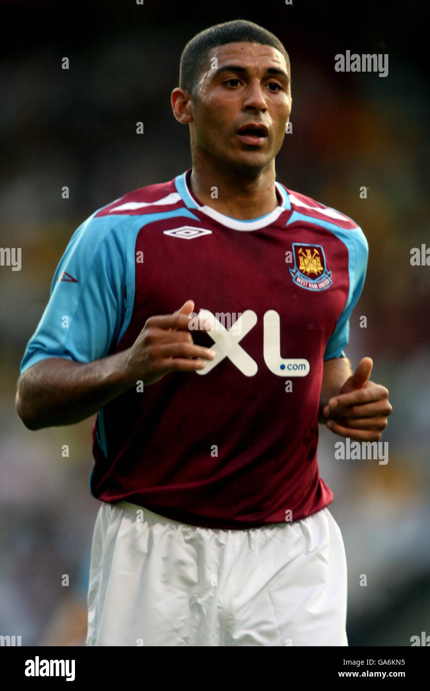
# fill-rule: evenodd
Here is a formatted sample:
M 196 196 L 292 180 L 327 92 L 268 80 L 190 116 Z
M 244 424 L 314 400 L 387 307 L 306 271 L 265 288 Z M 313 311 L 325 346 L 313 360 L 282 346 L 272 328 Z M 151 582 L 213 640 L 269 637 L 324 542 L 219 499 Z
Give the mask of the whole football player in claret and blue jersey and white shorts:
M 347 645 L 317 424 L 375 441 L 391 413 L 343 352 L 367 241 L 275 180 L 273 34 L 201 32 L 171 103 L 192 169 L 75 231 L 21 363 L 28 428 L 98 411 L 87 645 Z

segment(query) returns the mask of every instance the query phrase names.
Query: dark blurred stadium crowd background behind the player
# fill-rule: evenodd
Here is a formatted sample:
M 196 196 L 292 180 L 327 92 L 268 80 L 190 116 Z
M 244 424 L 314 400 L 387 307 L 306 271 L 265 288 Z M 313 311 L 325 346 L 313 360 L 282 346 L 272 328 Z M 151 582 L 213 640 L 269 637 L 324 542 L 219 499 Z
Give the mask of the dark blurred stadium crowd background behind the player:
M 277 179 L 351 216 L 369 240 L 346 354 L 353 366 L 370 355 L 371 378 L 389 388 L 389 463 L 335 460 L 340 437 L 320 426 L 348 562 L 349 644 L 430 634 L 430 266 L 410 263 L 412 247 L 430 247 L 428 3 L 17 0 L 2 13 L 0 247 L 21 247 L 22 267 L 0 267 L 0 634 L 84 645 L 94 418 L 27 430 L 14 410 L 19 365 L 78 225 L 190 167 L 188 128 L 170 108 L 179 57 L 195 33 L 237 18 L 275 32 L 291 59 L 293 133 Z M 335 72 L 346 50 L 388 53 L 389 75 Z

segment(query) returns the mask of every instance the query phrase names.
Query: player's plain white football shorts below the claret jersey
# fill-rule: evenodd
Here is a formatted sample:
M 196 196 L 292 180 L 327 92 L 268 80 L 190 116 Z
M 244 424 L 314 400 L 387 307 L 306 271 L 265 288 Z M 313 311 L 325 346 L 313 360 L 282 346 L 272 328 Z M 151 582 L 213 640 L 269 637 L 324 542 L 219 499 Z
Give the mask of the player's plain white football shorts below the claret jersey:
M 101 504 L 86 645 L 348 645 L 345 626 L 344 544 L 328 509 L 225 530 Z

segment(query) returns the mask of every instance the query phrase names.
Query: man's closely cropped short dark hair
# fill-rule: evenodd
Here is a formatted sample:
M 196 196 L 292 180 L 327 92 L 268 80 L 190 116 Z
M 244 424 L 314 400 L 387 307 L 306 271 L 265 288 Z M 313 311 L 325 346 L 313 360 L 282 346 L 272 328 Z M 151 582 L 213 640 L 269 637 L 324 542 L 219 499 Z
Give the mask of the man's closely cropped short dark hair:
M 210 26 L 188 41 L 179 63 L 179 88 L 183 88 L 194 97 L 199 79 L 206 68 L 209 50 L 240 41 L 259 43 L 279 50 L 284 56 L 291 84 L 290 59 L 280 39 L 253 21 L 234 19 Z

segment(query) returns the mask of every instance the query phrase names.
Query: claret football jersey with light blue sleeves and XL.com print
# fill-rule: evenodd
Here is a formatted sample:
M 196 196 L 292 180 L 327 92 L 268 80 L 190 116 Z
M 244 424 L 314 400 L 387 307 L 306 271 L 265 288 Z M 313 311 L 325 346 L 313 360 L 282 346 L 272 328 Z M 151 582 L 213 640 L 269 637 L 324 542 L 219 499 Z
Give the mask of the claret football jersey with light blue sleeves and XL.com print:
M 92 494 L 204 527 L 299 520 L 333 500 L 317 466 L 323 362 L 344 356 L 367 241 L 279 182 L 275 210 L 244 221 L 202 206 L 189 178 L 127 193 L 79 226 L 21 373 L 126 350 L 149 316 L 193 299 L 219 327 L 193 340 L 215 341 L 217 358 L 99 410 Z

